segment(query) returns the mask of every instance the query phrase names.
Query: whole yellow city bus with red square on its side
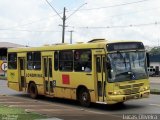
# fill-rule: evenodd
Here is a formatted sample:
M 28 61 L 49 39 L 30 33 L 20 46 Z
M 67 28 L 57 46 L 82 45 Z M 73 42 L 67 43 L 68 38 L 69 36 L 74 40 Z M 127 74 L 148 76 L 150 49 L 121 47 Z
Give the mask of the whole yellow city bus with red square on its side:
M 147 98 L 150 86 L 142 42 L 94 39 L 8 50 L 8 87 L 78 100 L 81 105 Z

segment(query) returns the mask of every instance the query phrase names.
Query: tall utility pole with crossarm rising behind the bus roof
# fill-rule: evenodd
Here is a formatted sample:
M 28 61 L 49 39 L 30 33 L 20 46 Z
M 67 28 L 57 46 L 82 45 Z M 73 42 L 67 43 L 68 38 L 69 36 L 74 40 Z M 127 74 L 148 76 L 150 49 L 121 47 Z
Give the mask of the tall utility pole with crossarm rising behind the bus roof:
M 65 27 L 66 27 L 66 8 L 64 7 L 63 10 L 63 25 L 62 25 L 62 43 L 64 43 L 64 39 L 65 39 Z

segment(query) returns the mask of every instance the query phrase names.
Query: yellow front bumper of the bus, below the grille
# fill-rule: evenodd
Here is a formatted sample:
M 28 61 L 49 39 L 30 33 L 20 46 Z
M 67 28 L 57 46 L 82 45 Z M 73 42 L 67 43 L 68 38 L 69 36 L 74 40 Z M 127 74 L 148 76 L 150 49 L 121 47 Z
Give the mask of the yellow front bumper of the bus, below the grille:
M 127 100 L 132 100 L 132 99 L 148 98 L 149 95 L 150 95 L 150 90 L 146 90 L 143 92 L 130 94 L 130 95 L 109 95 L 107 99 L 107 104 L 115 104 L 115 103 L 125 102 Z

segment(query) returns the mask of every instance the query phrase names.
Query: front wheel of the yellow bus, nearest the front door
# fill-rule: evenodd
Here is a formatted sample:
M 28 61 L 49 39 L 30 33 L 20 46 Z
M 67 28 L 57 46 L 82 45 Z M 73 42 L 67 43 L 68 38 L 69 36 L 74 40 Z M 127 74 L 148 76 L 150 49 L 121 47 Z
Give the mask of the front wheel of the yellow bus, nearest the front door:
M 90 94 L 89 91 L 85 88 L 81 89 L 79 92 L 79 102 L 82 106 L 84 107 L 89 107 L 90 106 L 90 102 L 91 102 L 91 98 L 90 98 Z

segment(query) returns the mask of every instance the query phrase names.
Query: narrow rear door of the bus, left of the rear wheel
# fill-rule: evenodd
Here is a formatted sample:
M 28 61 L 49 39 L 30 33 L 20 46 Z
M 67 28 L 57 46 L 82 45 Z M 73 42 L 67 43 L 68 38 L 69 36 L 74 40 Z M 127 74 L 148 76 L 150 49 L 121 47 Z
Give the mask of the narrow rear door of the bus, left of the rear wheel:
M 25 78 L 25 58 L 19 58 L 19 71 L 20 71 L 20 91 L 26 91 L 26 78 Z

